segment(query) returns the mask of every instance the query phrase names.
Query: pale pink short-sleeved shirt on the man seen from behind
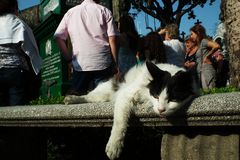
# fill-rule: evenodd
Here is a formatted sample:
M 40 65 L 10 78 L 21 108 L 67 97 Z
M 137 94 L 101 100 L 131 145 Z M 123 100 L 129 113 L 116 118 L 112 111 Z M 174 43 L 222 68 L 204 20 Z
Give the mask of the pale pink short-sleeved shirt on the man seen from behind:
M 112 63 L 109 36 L 119 35 L 112 13 L 93 0 L 84 0 L 63 17 L 54 36 L 71 39 L 77 71 L 103 70 Z

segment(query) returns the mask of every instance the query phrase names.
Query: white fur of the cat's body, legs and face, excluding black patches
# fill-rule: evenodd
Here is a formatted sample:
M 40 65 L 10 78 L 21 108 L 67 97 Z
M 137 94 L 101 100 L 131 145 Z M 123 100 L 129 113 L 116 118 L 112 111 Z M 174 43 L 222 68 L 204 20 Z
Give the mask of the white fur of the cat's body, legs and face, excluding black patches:
M 170 64 L 157 64 L 161 70 L 174 75 L 178 71 L 185 71 Z M 114 119 L 111 136 L 106 146 L 106 154 L 110 159 L 116 159 L 122 151 L 124 137 L 127 131 L 128 120 L 134 107 L 138 103 L 151 104 L 154 111 L 161 115 L 170 115 L 180 104 L 166 100 L 166 89 L 161 92 L 159 99 L 152 97 L 147 85 L 152 76 L 145 64 L 133 67 L 125 76 L 126 83 L 122 83 L 120 89 L 112 89 L 112 80 L 101 83 L 93 91 L 83 96 L 66 96 L 65 104 L 86 102 L 114 102 Z M 184 102 L 183 102 L 184 103 Z

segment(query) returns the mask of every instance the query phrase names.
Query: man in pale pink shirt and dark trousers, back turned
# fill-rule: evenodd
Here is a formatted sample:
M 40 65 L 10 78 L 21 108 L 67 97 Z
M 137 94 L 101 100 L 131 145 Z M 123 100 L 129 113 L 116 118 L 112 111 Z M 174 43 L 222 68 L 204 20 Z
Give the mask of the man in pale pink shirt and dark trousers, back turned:
M 89 85 L 109 79 L 116 71 L 117 36 L 112 13 L 98 4 L 84 0 L 71 8 L 60 22 L 54 37 L 63 57 L 73 66 L 71 92 L 85 94 Z M 68 37 L 72 53 L 66 45 Z

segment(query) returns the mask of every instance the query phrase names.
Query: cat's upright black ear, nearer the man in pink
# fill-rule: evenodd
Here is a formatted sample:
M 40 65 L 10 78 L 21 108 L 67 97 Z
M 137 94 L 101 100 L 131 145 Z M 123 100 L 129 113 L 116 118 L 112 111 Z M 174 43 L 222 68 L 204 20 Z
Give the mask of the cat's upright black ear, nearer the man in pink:
M 151 61 L 146 61 L 146 66 L 153 79 L 162 79 L 163 77 L 166 77 L 166 75 L 167 77 L 171 76 L 170 73 L 161 70 Z

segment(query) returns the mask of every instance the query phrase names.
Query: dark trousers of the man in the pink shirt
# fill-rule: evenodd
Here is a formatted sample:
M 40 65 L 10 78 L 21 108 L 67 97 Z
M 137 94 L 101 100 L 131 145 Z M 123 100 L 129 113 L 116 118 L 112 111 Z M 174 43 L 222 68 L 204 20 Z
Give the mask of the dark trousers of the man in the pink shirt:
M 113 76 L 113 67 L 99 71 L 73 71 L 73 79 L 67 94 L 83 95 L 94 89 L 100 82 Z

